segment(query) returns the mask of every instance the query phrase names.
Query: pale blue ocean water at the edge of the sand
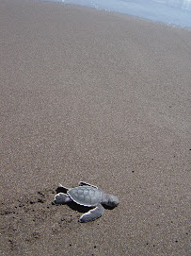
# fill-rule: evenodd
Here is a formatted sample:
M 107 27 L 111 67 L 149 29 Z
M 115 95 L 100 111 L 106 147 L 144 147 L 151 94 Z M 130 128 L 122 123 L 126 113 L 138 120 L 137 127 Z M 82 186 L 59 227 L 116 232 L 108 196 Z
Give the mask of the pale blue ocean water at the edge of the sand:
M 117 11 L 166 23 L 191 28 L 191 0 L 43 0 Z

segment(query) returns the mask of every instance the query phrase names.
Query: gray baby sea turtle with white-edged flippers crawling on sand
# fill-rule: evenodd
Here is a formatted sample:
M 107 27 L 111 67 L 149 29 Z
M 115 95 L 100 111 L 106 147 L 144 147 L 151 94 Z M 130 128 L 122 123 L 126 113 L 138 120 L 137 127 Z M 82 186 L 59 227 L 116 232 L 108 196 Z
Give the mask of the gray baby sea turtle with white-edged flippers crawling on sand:
M 59 189 L 65 190 L 67 194 L 56 194 L 56 204 L 74 201 L 77 204 L 93 208 L 89 210 L 88 213 L 84 213 L 80 217 L 79 222 L 88 222 L 101 217 L 104 211 L 103 205 L 111 208 L 119 205 L 119 198 L 117 196 L 104 194 L 101 188 L 83 181 L 80 181 L 79 186 L 75 188 L 67 188 L 60 184 Z

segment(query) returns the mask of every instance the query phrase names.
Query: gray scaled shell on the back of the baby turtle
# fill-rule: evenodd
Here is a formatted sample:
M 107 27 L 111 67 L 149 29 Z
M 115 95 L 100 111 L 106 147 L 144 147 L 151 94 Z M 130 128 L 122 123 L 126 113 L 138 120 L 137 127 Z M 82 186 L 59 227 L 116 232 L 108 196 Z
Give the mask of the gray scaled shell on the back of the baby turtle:
M 96 206 L 102 202 L 103 192 L 90 186 L 80 186 L 72 188 L 68 191 L 68 195 L 72 200 L 84 206 Z

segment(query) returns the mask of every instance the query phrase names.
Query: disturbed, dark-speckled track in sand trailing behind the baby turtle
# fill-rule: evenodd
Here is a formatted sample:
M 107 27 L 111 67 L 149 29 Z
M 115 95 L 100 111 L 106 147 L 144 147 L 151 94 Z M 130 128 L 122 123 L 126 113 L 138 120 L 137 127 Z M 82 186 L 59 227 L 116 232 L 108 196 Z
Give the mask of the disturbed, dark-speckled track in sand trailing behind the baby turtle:
M 1 202 L 0 240 L 4 244 L 3 251 L 8 255 L 21 253 L 27 245 L 35 247 L 36 243 L 43 243 L 47 234 L 63 235 L 76 229 L 79 225 L 76 219 L 80 214 L 52 204 L 55 194 L 55 190 L 49 189 L 22 200 L 15 198 L 10 204 Z

